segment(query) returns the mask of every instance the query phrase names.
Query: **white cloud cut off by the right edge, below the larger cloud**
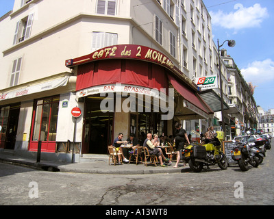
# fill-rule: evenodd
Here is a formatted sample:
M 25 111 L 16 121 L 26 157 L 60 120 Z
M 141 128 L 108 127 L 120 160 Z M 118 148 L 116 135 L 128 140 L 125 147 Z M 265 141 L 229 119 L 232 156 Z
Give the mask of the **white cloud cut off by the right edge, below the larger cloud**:
M 252 82 L 255 86 L 274 81 L 274 62 L 271 59 L 252 62 L 240 71 L 245 81 Z

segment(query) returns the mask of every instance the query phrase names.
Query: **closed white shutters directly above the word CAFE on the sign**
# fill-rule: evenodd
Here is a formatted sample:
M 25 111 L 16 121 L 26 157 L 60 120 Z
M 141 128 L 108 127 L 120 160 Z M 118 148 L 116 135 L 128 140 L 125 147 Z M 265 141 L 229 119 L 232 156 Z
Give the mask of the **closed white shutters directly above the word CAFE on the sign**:
M 92 51 L 117 44 L 118 34 L 92 32 Z

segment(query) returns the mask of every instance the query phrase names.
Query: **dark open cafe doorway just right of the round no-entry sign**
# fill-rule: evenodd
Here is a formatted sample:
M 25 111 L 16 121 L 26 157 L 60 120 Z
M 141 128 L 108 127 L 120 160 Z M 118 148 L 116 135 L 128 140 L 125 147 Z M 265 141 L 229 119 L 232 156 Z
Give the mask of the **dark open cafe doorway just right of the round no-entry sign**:
M 82 153 L 107 154 L 112 144 L 114 113 L 102 112 L 103 98 L 88 96 L 85 99 Z

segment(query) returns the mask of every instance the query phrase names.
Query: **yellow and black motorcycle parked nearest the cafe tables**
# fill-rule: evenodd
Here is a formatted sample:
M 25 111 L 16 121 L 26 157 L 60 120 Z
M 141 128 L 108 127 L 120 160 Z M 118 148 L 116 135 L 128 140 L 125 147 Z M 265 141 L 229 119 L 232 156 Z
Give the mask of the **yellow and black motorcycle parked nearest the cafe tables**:
M 222 170 L 227 169 L 227 157 L 220 151 L 221 142 L 216 135 L 208 144 L 188 145 L 182 151 L 182 159 L 188 163 L 191 170 L 201 172 L 203 166 L 213 166 L 218 164 Z

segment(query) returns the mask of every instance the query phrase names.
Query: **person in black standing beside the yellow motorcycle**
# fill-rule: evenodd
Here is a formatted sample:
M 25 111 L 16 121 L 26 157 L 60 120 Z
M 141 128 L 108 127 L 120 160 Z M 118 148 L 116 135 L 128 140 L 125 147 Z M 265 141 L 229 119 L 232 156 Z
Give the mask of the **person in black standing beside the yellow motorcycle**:
M 186 133 L 185 129 L 182 129 L 182 125 L 180 123 L 176 123 L 175 124 L 175 147 L 177 150 L 177 162 L 175 164 L 175 166 L 173 166 L 174 168 L 178 167 L 179 161 L 181 159 L 180 157 L 180 150 L 184 149 L 184 144 L 187 142 L 188 144 L 190 144 L 189 140 L 188 140 L 188 134 Z

